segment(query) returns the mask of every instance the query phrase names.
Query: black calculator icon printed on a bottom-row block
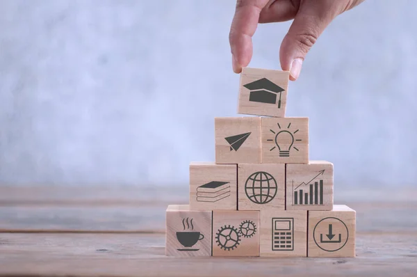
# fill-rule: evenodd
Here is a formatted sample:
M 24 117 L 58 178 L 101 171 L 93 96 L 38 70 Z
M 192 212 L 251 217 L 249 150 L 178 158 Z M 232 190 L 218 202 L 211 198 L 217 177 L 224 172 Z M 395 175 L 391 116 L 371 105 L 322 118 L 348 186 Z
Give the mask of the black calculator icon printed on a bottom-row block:
M 294 250 L 294 219 L 272 218 L 272 251 Z

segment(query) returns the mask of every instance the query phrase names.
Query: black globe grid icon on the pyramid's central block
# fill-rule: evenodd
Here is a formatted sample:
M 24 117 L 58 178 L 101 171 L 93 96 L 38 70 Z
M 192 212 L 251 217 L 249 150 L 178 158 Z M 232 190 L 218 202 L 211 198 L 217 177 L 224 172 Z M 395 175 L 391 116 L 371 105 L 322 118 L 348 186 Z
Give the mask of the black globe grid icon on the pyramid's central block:
M 253 203 L 269 203 L 277 195 L 277 181 L 270 173 L 255 172 L 246 180 L 245 193 Z

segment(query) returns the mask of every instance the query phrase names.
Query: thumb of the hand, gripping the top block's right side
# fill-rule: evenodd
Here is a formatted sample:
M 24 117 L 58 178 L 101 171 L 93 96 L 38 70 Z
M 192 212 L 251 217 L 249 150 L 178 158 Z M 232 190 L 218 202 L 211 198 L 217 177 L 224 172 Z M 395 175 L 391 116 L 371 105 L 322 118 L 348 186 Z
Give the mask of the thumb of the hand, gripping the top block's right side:
M 306 54 L 334 17 L 336 13 L 325 13 L 322 7 L 300 7 L 279 49 L 281 68 L 290 72 L 292 81 L 300 76 Z

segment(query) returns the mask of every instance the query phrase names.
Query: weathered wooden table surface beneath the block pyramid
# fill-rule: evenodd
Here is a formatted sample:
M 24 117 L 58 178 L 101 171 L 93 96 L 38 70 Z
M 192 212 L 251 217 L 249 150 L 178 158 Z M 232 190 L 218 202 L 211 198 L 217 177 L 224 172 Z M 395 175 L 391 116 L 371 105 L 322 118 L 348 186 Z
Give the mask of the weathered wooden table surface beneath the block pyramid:
M 182 187 L 0 187 L 0 276 L 417 276 L 417 187 L 336 189 L 357 258 L 172 258 Z

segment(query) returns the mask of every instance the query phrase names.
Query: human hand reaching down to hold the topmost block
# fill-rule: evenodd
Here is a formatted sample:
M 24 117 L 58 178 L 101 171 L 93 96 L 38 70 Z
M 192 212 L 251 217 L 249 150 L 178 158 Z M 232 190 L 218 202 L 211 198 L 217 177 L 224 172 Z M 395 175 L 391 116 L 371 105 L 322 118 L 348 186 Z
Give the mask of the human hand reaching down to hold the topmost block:
M 258 23 L 294 19 L 279 49 L 282 70 L 295 81 L 302 62 L 327 25 L 364 0 L 238 0 L 229 34 L 233 70 L 240 73 L 252 58 L 252 35 Z

